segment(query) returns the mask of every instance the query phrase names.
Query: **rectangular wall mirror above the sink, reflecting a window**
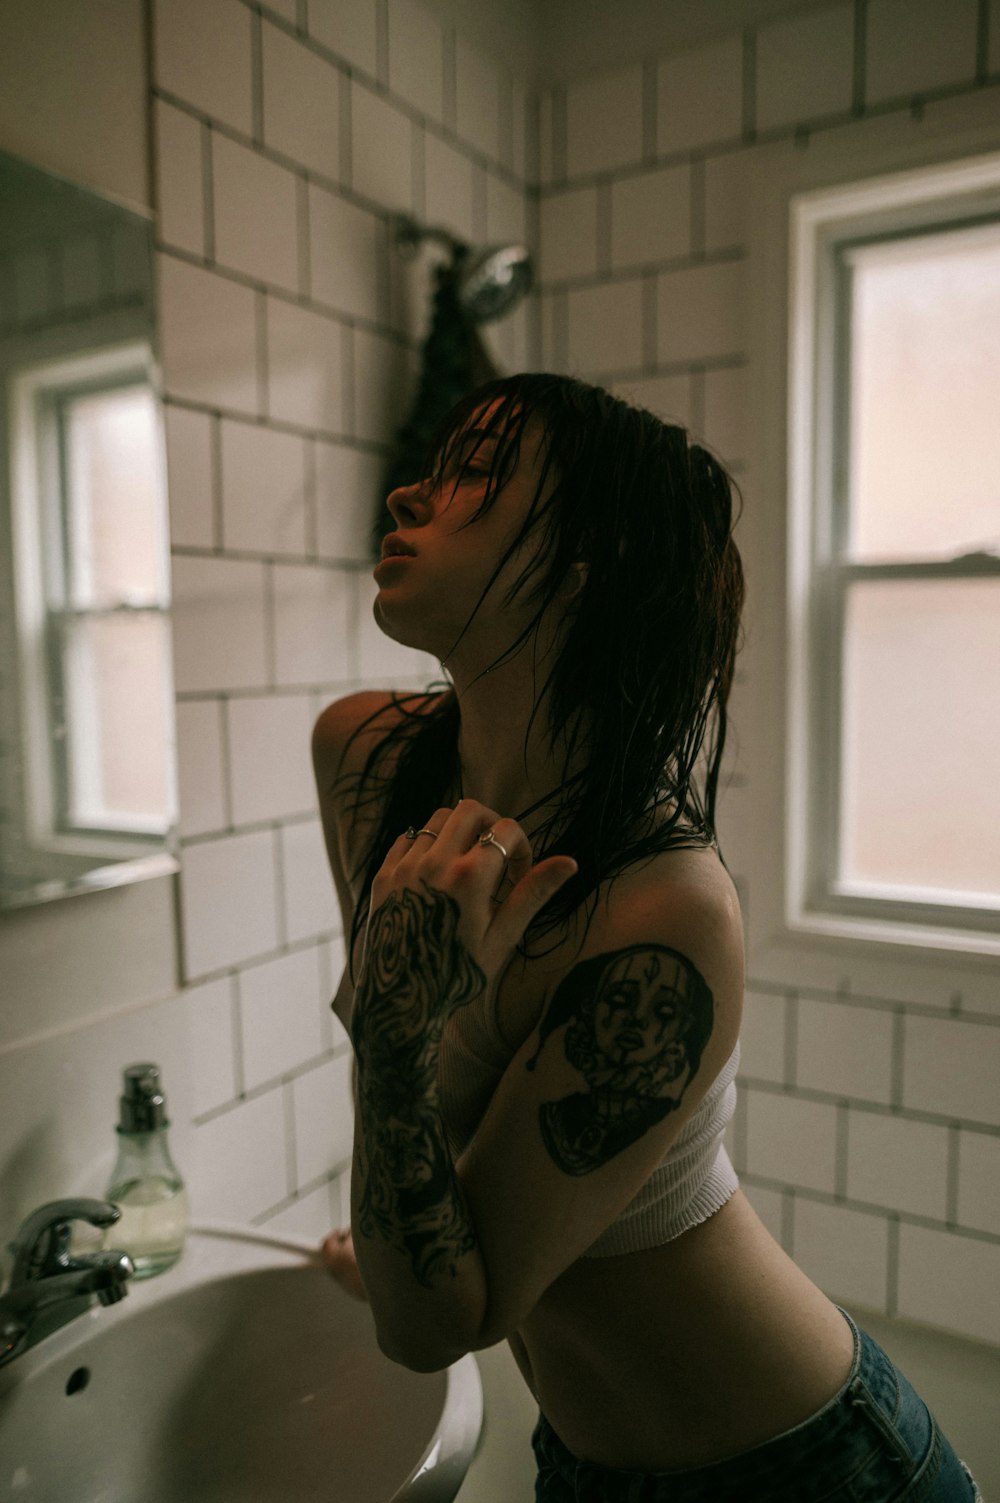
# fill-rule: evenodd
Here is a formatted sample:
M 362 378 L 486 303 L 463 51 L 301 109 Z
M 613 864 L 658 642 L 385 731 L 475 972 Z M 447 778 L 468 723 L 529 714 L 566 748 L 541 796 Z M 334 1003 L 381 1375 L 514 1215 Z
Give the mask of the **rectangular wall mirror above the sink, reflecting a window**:
M 176 869 L 150 219 L 0 153 L 0 908 Z

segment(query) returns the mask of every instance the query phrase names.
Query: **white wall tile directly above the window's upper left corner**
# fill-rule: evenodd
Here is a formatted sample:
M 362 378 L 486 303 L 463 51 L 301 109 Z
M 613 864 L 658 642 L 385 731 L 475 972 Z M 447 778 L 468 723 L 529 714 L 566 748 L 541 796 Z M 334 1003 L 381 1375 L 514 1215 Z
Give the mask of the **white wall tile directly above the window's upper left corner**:
M 850 3 L 835 5 L 758 30 L 758 131 L 850 111 L 854 9 Z

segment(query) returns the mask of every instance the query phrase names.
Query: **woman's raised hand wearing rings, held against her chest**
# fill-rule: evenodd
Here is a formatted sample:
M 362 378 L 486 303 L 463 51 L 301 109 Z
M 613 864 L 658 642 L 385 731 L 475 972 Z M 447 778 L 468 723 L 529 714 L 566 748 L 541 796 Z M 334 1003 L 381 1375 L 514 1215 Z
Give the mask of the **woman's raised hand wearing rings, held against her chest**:
M 423 971 L 424 984 L 456 980 L 460 993 L 478 990 L 477 975 L 489 984 L 499 974 L 577 863 L 553 855 L 535 864 L 520 825 L 474 798 L 438 809 L 421 831 L 430 834 L 395 840 L 371 884 L 362 975 L 392 972 L 398 957 Z M 487 831 L 496 845 L 481 843 Z M 463 974 L 448 977 L 459 950 Z M 454 1006 L 469 999 L 462 995 Z

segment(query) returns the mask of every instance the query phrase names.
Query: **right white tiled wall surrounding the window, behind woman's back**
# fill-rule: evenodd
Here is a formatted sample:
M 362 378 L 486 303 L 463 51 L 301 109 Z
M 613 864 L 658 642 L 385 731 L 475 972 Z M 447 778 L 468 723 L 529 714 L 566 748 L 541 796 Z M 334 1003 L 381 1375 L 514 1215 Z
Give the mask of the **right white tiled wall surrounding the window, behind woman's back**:
M 758 143 L 805 149 L 811 132 L 847 132 L 863 171 L 877 116 L 896 111 L 917 132 L 923 114 L 947 111 L 961 129 L 992 101 L 1000 120 L 997 74 L 1000 0 L 832 0 L 538 99 L 543 361 L 684 424 L 732 469 L 752 639 L 768 609 L 755 594 L 762 561 L 783 549 L 780 504 L 756 505 L 746 473 Z M 740 712 L 762 688 L 780 693 L 750 640 L 731 700 L 734 786 L 719 806 L 744 914 L 764 876 L 743 839 L 756 783 Z M 817 951 L 803 974 L 788 947 L 767 981 L 747 977 L 741 1046 L 726 1141 L 806 1273 L 845 1303 L 1000 1341 L 995 968 L 859 947 L 850 962 Z

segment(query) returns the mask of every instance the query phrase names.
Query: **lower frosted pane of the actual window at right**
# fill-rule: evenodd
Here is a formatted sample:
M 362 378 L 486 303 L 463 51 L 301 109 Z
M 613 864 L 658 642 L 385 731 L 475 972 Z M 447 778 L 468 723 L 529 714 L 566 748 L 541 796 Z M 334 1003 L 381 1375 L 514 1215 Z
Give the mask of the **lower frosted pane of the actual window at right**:
M 839 876 L 1000 903 L 1000 580 L 853 585 L 844 685 Z

